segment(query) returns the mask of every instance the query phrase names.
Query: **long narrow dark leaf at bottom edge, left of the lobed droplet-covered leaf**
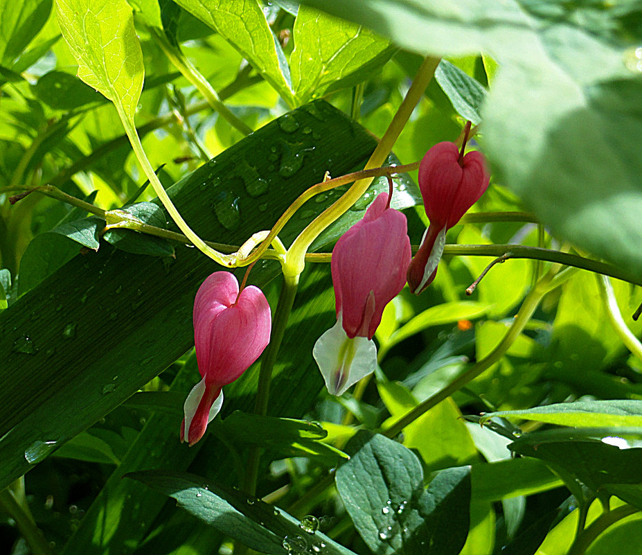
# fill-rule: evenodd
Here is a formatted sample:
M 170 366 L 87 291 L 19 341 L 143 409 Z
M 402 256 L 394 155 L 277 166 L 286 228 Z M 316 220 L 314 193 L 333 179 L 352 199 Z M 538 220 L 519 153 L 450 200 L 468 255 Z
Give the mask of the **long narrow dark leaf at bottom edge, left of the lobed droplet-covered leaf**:
M 316 545 L 322 554 L 353 555 L 353 552 L 330 540 L 325 534 L 303 531 L 299 527 L 299 521 L 285 511 L 276 510 L 274 506 L 261 500 L 249 499 L 238 490 L 204 482 L 187 473 L 162 470 L 131 473 L 127 477 L 173 497 L 188 513 L 258 552 L 283 555 L 292 553 L 294 549 L 285 547 L 289 538 L 292 545 L 303 552 L 307 552 L 308 546 L 314 549 L 312 546 Z

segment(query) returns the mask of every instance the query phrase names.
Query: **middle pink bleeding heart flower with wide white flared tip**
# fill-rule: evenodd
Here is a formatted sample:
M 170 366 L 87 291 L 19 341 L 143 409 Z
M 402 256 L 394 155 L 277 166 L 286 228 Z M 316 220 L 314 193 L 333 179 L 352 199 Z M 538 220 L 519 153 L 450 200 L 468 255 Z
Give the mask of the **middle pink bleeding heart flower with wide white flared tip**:
M 374 371 L 373 335 L 386 304 L 406 283 L 411 258 L 406 217 L 388 204 L 388 193 L 381 193 L 332 250 L 337 324 L 312 351 L 332 395 Z

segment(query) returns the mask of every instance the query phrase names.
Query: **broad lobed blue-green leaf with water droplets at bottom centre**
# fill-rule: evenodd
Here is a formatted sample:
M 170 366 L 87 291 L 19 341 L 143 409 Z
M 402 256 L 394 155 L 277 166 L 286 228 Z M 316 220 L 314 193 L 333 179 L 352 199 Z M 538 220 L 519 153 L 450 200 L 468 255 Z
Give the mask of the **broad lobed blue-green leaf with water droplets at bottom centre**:
M 470 468 L 436 474 L 427 490 L 411 450 L 361 431 L 346 446 L 337 490 L 373 553 L 456 555 L 470 521 Z M 447 529 L 448 534 L 443 534 Z

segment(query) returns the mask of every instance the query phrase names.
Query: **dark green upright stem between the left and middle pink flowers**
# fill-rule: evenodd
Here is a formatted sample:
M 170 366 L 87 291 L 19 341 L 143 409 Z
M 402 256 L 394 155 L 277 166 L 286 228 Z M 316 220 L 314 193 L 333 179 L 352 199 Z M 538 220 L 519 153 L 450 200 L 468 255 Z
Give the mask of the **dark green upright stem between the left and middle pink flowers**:
M 296 296 L 297 288 L 298 276 L 284 276 L 280 295 L 278 297 L 278 303 L 274 312 L 274 318 L 272 319 L 270 341 L 262 355 L 261 366 L 258 374 L 254 412 L 261 416 L 265 416 L 267 414 L 272 369 L 274 368 L 276 355 L 278 354 L 281 342 L 283 341 L 285 328 L 287 328 L 287 319 L 289 318 L 290 312 L 292 312 L 292 305 L 294 304 L 294 297 Z M 244 490 L 249 495 L 256 495 L 256 482 L 258 479 L 260 455 L 260 447 L 255 446 L 251 448 L 245 470 L 245 481 L 243 484 Z

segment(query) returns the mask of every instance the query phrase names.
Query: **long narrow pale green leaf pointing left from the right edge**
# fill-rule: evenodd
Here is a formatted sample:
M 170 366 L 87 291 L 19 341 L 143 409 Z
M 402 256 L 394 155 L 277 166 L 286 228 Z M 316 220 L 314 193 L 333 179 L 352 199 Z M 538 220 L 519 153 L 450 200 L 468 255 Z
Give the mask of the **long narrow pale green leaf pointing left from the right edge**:
M 642 400 L 595 400 L 576 403 L 556 403 L 545 407 L 524 410 L 505 410 L 484 414 L 480 423 L 494 416 L 515 416 L 576 428 L 601 428 L 606 426 L 641 426 Z M 615 432 L 616 430 L 614 430 Z

